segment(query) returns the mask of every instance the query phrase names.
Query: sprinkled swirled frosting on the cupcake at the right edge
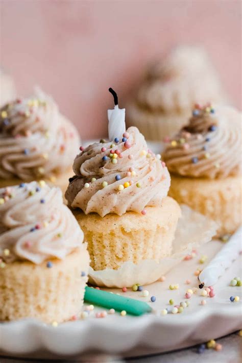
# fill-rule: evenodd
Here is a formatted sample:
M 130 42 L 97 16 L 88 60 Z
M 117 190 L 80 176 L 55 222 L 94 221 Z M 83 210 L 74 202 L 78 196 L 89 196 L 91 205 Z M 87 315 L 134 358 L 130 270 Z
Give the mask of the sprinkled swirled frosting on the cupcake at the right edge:
M 189 124 L 169 141 L 163 159 L 181 176 L 226 178 L 241 170 L 241 113 L 210 105 L 192 111 Z

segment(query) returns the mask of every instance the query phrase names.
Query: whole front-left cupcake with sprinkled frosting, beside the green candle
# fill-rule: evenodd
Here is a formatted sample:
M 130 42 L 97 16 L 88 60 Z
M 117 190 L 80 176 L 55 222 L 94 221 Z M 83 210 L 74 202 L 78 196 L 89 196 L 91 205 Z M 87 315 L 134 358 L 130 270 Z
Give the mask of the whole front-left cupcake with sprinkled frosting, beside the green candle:
M 89 255 L 59 188 L 44 181 L 0 189 L 0 321 L 46 323 L 79 313 Z

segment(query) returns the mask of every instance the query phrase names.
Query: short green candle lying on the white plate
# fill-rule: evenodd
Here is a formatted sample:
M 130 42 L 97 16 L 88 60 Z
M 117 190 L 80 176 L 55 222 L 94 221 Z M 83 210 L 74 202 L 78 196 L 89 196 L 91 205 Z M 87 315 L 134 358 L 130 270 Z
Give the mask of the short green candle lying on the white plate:
M 152 308 L 143 301 L 107 293 L 106 291 L 88 286 L 86 287 L 84 301 L 108 309 L 113 308 L 117 311 L 125 310 L 128 314 L 132 315 L 142 315 L 152 311 Z

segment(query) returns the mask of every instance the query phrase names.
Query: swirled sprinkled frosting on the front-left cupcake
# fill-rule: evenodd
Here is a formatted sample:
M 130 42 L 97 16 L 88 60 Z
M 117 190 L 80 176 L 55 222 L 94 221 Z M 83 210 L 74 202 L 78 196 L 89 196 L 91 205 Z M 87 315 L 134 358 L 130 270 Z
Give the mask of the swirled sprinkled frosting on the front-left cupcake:
M 43 181 L 0 189 L 0 259 L 41 263 L 81 247 L 83 232 L 59 188 Z

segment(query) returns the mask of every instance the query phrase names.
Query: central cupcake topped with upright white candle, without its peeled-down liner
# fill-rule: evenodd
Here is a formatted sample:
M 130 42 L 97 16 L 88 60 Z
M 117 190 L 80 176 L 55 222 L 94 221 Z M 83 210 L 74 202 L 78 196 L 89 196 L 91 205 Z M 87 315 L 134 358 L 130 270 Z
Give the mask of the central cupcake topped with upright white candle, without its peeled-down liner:
M 118 137 L 93 143 L 76 157 L 65 193 L 94 270 L 170 255 L 180 216 L 177 202 L 167 197 L 170 175 L 160 155 L 148 150 L 136 127 L 119 137 L 118 110 L 109 114 L 109 135 L 116 130 Z

